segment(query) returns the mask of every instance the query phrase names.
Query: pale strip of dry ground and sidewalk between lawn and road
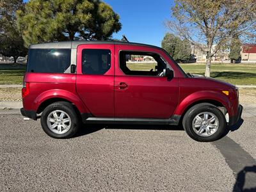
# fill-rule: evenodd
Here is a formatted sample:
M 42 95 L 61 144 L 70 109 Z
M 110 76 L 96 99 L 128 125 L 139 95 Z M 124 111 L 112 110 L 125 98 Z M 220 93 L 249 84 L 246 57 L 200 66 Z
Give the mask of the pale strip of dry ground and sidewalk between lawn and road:
M 256 104 L 255 85 L 237 85 L 239 88 L 240 102 Z M 0 109 L 22 108 L 22 84 L 0 84 Z

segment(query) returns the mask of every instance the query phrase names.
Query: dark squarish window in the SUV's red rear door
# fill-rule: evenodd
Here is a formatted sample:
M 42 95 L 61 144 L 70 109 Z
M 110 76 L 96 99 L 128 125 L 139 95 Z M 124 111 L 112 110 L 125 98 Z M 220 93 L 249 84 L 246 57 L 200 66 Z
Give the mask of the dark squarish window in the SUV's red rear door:
M 83 49 L 82 72 L 83 74 L 105 74 L 111 63 L 111 51 L 109 49 Z

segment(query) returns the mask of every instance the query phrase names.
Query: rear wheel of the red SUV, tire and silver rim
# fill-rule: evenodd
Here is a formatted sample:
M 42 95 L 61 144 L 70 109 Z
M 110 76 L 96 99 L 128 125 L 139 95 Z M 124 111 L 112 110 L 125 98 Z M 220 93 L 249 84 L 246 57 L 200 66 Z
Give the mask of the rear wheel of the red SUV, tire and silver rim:
M 41 116 L 44 131 L 52 138 L 71 138 L 79 128 L 79 120 L 72 104 L 54 102 L 44 109 Z

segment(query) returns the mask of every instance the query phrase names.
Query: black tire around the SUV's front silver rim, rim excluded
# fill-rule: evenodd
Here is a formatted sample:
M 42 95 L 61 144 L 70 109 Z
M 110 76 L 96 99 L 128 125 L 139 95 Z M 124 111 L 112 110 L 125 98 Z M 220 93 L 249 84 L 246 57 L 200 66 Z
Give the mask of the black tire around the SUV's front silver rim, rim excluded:
M 193 129 L 193 120 L 195 116 L 203 112 L 213 113 L 213 115 L 218 118 L 218 129 L 211 136 L 200 136 L 196 134 Z M 193 140 L 202 142 L 210 142 L 220 139 L 227 129 L 227 122 L 223 113 L 220 109 L 216 108 L 216 106 L 209 103 L 196 104 L 192 108 L 188 109 L 182 120 L 182 125 L 189 137 Z

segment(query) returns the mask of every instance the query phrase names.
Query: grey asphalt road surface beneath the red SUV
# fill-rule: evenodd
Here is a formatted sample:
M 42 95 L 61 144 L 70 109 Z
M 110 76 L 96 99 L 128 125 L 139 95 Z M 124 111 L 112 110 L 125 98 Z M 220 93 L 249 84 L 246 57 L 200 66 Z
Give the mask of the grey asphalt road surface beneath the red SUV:
M 39 120 L 0 111 L 0 191 L 256 191 L 255 111 L 246 106 L 243 124 L 212 143 L 141 125 L 55 140 Z

